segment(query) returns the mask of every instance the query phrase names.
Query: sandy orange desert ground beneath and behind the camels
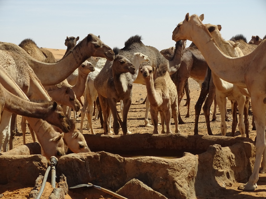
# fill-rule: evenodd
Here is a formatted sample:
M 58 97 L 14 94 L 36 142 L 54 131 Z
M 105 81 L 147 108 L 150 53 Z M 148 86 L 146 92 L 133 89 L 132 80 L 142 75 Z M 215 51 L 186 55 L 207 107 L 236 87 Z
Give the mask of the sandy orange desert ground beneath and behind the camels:
M 58 49 L 48 49 L 51 50 L 52 53 L 55 55 L 57 59 L 61 58 L 65 50 L 58 50 Z M 197 102 L 197 99 L 200 95 L 200 86 L 196 81 L 193 79 L 189 79 L 190 83 L 190 96 L 191 96 L 191 102 L 190 102 L 190 117 L 185 118 L 186 112 L 187 112 L 187 107 L 184 106 L 185 104 L 185 99 L 181 101 L 180 105 L 180 113 L 183 121 L 185 124 L 179 125 L 179 128 L 181 130 L 182 134 L 186 135 L 194 135 L 194 120 L 195 120 L 195 110 L 194 106 Z M 144 116 L 145 116 L 145 109 L 146 106 L 142 102 L 146 98 L 147 91 L 146 91 L 146 86 L 145 85 L 139 85 L 139 84 L 134 84 L 133 85 L 133 98 L 132 98 L 132 104 L 128 113 L 128 128 L 132 133 L 152 133 L 153 127 L 144 127 Z M 184 98 L 186 98 L 184 96 Z M 82 101 L 84 101 L 84 98 L 82 98 Z M 120 110 L 120 104 L 117 104 L 117 109 Z M 214 105 L 211 106 L 211 111 L 214 110 Z M 231 103 L 228 101 L 227 103 L 227 111 L 232 119 L 231 115 Z M 202 111 L 203 112 L 203 111 Z M 80 113 L 80 111 L 79 111 Z M 72 114 L 73 115 L 73 114 Z M 212 115 L 211 115 L 212 117 Z M 219 109 L 217 108 L 217 118 L 220 120 L 221 116 L 219 113 Z M 80 119 L 80 118 L 79 118 Z M 150 114 L 149 114 L 149 121 L 150 121 Z M 252 121 L 252 114 L 249 115 L 249 121 L 250 121 L 250 126 L 251 126 L 251 121 Z M 87 118 L 85 116 L 85 120 L 83 123 L 83 132 L 85 133 L 91 133 L 88 130 L 85 130 L 87 123 Z M 151 123 L 151 122 L 150 122 Z M 211 122 L 211 129 L 214 135 L 220 135 L 220 122 L 219 121 L 214 121 Z M 228 130 L 227 130 L 227 136 L 231 136 L 231 122 L 227 122 Z M 20 130 L 20 124 L 18 123 L 19 131 Z M 96 122 L 93 122 L 93 127 L 95 133 L 103 133 L 103 129 L 101 129 L 100 121 L 97 120 Z M 76 128 L 80 129 L 80 121 L 76 122 Z M 172 119 L 172 125 L 171 129 L 174 132 L 174 121 Z M 252 126 L 250 127 L 250 138 L 252 140 L 255 139 L 256 132 L 252 131 Z M 161 130 L 161 126 L 159 126 L 159 132 Z M 122 130 L 120 129 L 119 135 L 122 134 Z M 199 134 L 200 135 L 207 135 L 207 128 L 206 128 L 206 122 L 205 122 L 205 117 L 204 115 L 200 115 L 199 118 Z M 235 136 L 240 136 L 240 133 L 238 131 L 238 128 L 236 129 L 236 134 Z M 21 145 L 23 143 L 22 140 L 22 133 L 18 133 L 15 136 L 14 139 L 14 147 Z M 29 130 L 27 129 L 27 134 L 26 134 L 26 142 L 32 142 L 31 135 L 29 133 Z M 239 191 L 237 187 L 240 185 L 240 183 L 234 183 L 231 187 L 226 187 L 226 190 L 217 192 L 217 194 L 213 197 L 210 198 L 235 198 L 235 199 L 253 199 L 253 198 L 266 198 L 266 174 L 259 174 L 259 181 L 257 182 L 258 188 L 255 191 Z M 49 185 L 47 185 L 47 193 L 43 198 L 48 198 L 49 194 L 51 193 L 52 189 L 49 189 Z M 32 187 L 23 187 L 23 185 L 1 185 L 0 186 L 0 193 L 4 195 L 3 198 L 27 198 L 28 193 L 30 192 Z M 66 199 L 69 198 L 80 198 L 80 197 L 74 197 L 72 194 L 72 197 L 69 195 L 66 196 Z M 90 198 L 88 196 L 88 198 Z M 101 198 L 101 197 L 99 197 Z M 134 198 L 134 197 L 132 197 Z

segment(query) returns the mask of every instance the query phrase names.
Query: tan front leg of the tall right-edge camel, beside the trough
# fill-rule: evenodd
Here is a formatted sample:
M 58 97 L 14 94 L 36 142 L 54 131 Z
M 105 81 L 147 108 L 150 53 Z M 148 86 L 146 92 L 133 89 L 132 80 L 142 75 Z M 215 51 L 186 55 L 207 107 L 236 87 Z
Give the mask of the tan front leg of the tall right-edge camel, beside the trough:
M 265 150 L 265 111 L 266 107 L 263 103 L 264 96 L 263 95 L 251 95 L 251 103 L 252 110 L 255 119 L 255 125 L 257 129 L 257 140 L 256 140 L 256 158 L 254 163 L 253 172 L 248 180 L 248 182 L 244 185 L 240 185 L 238 189 L 240 190 L 255 190 L 257 186 L 257 181 L 259 179 L 259 169 L 262 154 Z

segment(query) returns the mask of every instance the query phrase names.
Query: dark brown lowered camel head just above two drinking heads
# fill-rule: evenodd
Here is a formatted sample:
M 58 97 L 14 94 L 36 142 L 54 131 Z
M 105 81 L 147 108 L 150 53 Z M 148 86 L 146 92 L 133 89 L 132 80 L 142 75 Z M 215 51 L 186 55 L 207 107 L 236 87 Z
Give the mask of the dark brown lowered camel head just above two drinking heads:
M 57 105 L 57 103 L 51 102 L 50 111 L 47 114 L 46 120 L 52 125 L 55 125 L 62 129 L 63 132 L 67 133 L 70 130 L 70 122 L 68 118 L 65 116 L 63 109 L 60 105 Z

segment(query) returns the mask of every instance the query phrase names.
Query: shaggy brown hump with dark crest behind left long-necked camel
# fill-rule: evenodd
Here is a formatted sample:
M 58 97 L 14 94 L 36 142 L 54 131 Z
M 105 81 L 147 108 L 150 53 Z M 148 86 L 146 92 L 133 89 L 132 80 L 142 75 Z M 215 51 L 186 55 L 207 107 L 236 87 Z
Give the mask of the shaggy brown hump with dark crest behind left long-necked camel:
M 31 57 L 39 60 L 40 62 L 45 63 L 55 63 L 56 59 L 53 54 L 46 49 L 39 48 L 37 44 L 32 39 L 24 39 L 18 45 L 22 49 L 24 49 Z

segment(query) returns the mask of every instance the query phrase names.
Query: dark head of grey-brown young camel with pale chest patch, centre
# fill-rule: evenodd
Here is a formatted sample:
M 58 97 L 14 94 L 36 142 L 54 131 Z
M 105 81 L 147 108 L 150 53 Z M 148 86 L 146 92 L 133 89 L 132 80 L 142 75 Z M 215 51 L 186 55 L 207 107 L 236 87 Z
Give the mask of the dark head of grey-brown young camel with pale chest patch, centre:
M 114 48 L 117 51 L 117 48 Z M 135 74 L 135 67 L 125 56 L 116 54 L 112 65 L 113 73 L 121 74 L 124 72 L 129 72 L 132 75 Z

